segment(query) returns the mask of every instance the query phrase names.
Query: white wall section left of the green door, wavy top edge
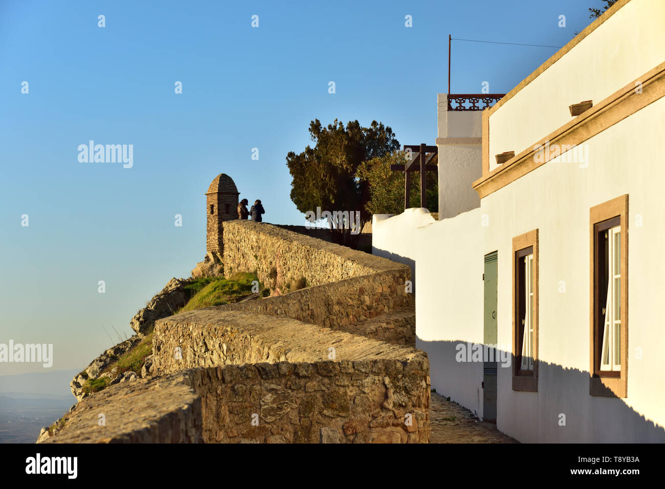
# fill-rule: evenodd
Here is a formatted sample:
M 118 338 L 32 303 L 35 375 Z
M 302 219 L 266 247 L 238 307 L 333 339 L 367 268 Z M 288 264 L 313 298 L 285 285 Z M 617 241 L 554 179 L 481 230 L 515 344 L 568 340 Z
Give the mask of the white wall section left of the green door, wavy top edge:
M 477 415 L 483 364 L 457 363 L 455 345 L 483 342 L 480 228 L 479 209 L 445 221 L 425 209 L 407 209 L 389 219 L 375 215 L 372 223 L 374 254 L 416 262 L 416 347 L 428 353 L 432 388 Z M 475 239 L 469 233 L 474 229 Z

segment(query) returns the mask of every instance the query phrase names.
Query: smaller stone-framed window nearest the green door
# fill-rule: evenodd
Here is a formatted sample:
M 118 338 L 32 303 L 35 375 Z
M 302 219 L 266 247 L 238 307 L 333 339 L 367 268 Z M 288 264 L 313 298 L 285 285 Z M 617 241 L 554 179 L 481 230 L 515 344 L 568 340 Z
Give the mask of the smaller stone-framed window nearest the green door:
M 513 391 L 538 391 L 538 230 L 513 238 Z

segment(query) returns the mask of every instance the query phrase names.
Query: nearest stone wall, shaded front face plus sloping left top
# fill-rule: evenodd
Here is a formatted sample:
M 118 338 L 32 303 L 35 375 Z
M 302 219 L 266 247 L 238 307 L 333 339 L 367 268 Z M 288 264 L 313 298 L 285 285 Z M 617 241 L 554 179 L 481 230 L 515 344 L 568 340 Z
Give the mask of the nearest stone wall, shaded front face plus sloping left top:
M 424 356 L 188 369 L 112 385 L 40 442 L 426 443 L 427 372 Z

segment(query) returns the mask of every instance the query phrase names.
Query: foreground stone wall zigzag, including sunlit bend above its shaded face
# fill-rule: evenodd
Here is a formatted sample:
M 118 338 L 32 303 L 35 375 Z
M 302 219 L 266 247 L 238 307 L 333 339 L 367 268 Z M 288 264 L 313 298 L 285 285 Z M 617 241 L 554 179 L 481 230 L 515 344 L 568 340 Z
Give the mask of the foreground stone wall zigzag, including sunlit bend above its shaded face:
M 158 320 L 153 358 L 156 375 L 83 399 L 42 441 L 429 440 L 429 362 L 413 347 L 207 308 Z

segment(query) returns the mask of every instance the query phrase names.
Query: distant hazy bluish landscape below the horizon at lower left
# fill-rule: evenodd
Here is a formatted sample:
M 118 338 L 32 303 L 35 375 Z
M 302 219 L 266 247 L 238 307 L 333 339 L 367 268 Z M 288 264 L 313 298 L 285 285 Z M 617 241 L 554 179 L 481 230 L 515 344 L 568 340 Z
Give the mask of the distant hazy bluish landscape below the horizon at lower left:
M 0 376 L 0 443 L 34 443 L 76 403 L 69 382 L 76 370 Z

